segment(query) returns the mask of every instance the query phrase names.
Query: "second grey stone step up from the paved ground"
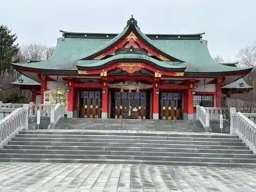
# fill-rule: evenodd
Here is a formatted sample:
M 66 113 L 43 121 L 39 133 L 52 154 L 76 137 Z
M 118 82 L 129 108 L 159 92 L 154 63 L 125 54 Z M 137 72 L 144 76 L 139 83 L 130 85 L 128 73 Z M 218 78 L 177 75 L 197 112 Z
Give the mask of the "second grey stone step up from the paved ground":
M 168 157 L 168 156 L 133 156 L 133 155 L 75 155 L 75 154 L 1 154 L 1 158 L 36 158 L 36 159 L 101 159 L 101 160 L 147 160 L 147 161 L 189 161 L 189 162 L 224 162 L 255 163 L 248 158 L 214 158 L 214 157 Z M 93 160 L 91 163 L 94 163 Z

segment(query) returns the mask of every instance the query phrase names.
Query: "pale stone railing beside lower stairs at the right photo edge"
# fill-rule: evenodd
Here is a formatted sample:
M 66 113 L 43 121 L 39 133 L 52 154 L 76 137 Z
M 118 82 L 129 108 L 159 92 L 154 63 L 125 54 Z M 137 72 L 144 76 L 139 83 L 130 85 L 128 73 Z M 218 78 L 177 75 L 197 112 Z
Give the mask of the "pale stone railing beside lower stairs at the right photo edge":
M 254 114 L 236 112 L 236 108 L 230 108 L 230 134 L 237 134 L 243 142 L 256 154 L 256 124 L 248 117 Z

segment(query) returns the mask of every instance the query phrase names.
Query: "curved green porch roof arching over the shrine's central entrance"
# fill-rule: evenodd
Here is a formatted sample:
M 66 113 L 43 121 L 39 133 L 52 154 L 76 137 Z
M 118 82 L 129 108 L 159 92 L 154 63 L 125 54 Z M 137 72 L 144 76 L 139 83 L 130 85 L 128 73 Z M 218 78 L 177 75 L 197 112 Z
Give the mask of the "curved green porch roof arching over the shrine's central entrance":
M 82 63 L 84 60 L 80 60 L 78 61 L 78 65 L 77 68 L 81 69 L 81 68 L 95 68 L 98 66 L 102 66 L 105 65 L 106 63 L 110 63 L 113 61 L 125 61 L 125 59 L 136 59 L 136 61 L 146 61 L 146 62 L 151 62 L 154 64 L 156 64 L 157 66 L 161 67 L 161 68 L 168 68 L 168 69 L 179 69 L 181 71 L 185 70 L 184 66 L 176 66 L 176 65 L 169 65 L 169 62 L 166 61 L 159 61 L 156 60 L 152 57 L 149 57 L 147 55 L 140 55 L 140 54 L 119 54 L 119 55 L 115 55 L 106 59 L 102 59 L 102 60 L 98 60 L 98 62 L 93 62 L 93 63 Z

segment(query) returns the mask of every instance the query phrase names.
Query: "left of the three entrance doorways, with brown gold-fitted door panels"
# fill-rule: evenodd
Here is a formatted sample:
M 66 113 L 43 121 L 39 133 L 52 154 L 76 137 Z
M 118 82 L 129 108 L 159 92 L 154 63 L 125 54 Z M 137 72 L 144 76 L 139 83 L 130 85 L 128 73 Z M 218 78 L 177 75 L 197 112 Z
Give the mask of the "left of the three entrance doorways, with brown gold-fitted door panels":
M 79 93 L 79 117 L 100 118 L 101 115 L 101 92 L 80 91 Z

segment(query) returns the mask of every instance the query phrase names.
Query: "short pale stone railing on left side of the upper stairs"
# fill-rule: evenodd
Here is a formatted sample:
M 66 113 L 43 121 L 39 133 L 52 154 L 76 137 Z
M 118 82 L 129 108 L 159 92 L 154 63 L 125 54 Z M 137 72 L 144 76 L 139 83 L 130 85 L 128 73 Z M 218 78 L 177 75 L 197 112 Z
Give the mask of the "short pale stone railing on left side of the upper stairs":
M 54 128 L 61 117 L 64 117 L 64 105 L 62 105 L 61 103 L 57 103 L 51 108 L 51 118 L 48 129 L 50 127 Z

